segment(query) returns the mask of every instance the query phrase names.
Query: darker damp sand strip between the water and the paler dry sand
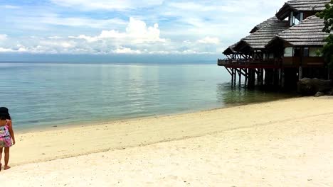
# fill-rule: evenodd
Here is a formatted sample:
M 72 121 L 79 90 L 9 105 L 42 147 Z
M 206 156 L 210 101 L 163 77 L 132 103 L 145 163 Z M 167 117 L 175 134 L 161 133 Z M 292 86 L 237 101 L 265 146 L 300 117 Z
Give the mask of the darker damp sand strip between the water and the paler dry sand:
M 312 97 L 288 98 L 279 101 L 212 109 L 196 113 L 136 118 L 111 123 L 16 133 L 16 145 L 12 148 L 13 156 L 11 163 L 15 166 L 31 162 L 45 162 L 53 159 L 105 152 L 112 149 L 124 149 L 126 147 L 151 145 L 171 140 L 182 140 L 189 137 L 200 137 L 226 130 L 236 130 L 238 128 L 250 128 L 254 125 L 270 123 L 274 119 L 281 120 L 280 116 L 276 116 L 274 110 L 263 111 L 263 107 L 270 108 L 269 106 L 273 105 L 285 108 L 284 103 L 320 101 L 320 99 Z M 329 97 L 322 99 L 329 100 Z M 290 110 L 290 108 L 288 109 Z M 255 112 L 258 110 L 261 113 L 266 113 L 266 115 L 272 115 L 272 119 L 261 119 L 261 115 Z M 236 117 L 237 115 L 243 115 L 243 119 L 240 118 L 238 120 L 232 117 Z M 269 115 L 266 117 L 269 117 Z M 289 115 L 289 113 L 282 113 L 282 115 Z M 244 118 L 256 120 L 256 122 L 248 123 Z M 287 118 L 287 120 L 292 118 Z M 218 125 L 218 123 L 223 123 L 223 125 Z M 98 140 L 97 145 L 92 142 L 94 140 Z M 88 142 L 85 145 L 83 141 Z M 68 142 L 73 144 L 69 145 Z M 31 152 L 34 149 L 38 150 L 38 152 Z M 21 154 L 16 154 L 16 152 L 26 153 L 25 157 L 19 156 Z

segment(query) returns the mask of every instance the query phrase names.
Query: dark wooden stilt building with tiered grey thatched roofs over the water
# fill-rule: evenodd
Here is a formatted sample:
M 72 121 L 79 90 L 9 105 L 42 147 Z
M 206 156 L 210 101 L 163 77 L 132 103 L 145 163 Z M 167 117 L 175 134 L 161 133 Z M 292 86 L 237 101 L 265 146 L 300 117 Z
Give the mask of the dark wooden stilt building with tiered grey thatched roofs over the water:
M 314 16 L 329 0 L 292 0 L 274 17 L 258 24 L 250 35 L 228 47 L 218 60 L 231 74 L 233 83 L 292 87 L 302 77 L 329 78 L 327 63 L 320 53 L 325 45 L 324 21 Z

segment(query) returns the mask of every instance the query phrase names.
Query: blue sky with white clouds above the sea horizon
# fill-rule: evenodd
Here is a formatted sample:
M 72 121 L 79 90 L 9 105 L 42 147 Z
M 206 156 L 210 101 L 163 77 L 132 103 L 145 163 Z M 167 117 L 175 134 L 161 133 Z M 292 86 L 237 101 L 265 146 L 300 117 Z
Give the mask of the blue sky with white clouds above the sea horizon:
M 285 0 L 0 0 L 0 61 L 15 57 L 219 57 Z

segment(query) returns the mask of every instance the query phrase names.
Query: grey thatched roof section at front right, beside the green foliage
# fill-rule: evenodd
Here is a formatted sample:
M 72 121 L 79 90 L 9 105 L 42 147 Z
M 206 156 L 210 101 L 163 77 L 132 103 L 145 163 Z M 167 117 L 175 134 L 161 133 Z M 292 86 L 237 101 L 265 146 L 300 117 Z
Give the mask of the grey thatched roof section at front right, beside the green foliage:
M 323 32 L 324 21 L 317 16 L 310 16 L 296 26 L 279 33 L 277 38 L 285 40 L 290 45 L 325 45 L 324 38 L 328 36 Z

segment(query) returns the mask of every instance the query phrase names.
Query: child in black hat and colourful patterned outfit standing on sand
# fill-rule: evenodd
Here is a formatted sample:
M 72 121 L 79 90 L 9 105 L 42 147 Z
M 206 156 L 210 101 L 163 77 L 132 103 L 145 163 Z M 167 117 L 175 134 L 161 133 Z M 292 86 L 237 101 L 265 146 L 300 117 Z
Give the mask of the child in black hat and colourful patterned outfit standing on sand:
M 4 149 L 4 169 L 10 169 L 9 162 L 9 147 L 15 144 L 15 137 L 13 125 L 11 124 L 11 116 L 9 115 L 8 108 L 0 107 L 0 171 L 2 151 Z

